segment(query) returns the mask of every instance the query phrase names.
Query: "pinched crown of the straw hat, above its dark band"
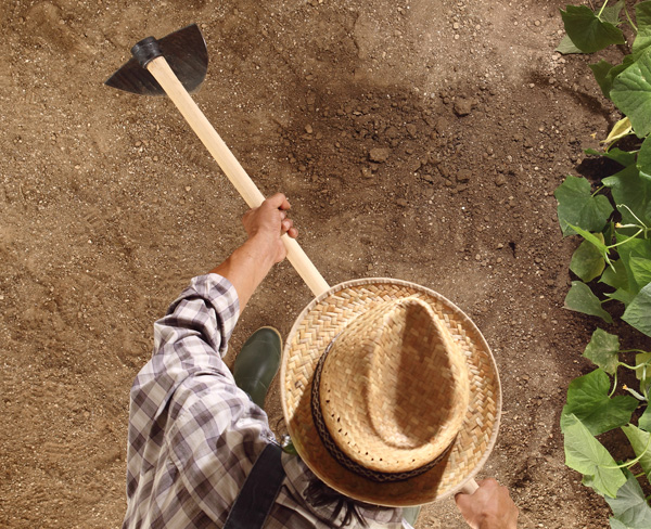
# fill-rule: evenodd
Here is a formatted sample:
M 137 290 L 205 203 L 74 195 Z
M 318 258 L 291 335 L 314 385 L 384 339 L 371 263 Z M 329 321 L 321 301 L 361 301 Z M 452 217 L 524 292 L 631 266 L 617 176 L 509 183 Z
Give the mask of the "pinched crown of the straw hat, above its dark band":
M 319 404 L 347 457 L 404 473 L 450 446 L 469 392 L 463 353 L 429 304 L 412 296 L 380 302 L 342 331 L 323 362 Z

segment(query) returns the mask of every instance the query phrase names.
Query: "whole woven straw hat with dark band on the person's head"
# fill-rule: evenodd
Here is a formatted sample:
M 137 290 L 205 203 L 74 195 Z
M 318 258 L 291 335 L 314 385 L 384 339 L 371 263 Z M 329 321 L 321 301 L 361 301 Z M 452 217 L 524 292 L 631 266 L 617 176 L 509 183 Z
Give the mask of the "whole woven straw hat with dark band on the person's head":
M 387 506 L 455 493 L 495 444 L 501 392 L 472 321 L 399 280 L 342 283 L 285 341 L 281 402 L 296 451 L 331 488 Z

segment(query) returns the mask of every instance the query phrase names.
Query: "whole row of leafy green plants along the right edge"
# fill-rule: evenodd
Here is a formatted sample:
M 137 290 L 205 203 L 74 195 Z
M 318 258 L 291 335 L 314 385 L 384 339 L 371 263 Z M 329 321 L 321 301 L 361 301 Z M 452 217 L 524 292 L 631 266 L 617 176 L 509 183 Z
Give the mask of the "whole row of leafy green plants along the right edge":
M 580 281 L 572 282 L 565 307 L 607 323 L 621 313 L 624 322 L 651 336 L 651 1 L 635 5 L 635 22 L 623 1 L 608 3 L 598 11 L 586 5 L 561 10 L 567 34 L 557 49 L 561 53 L 625 44 L 623 12 L 634 36 L 620 64 L 602 60 L 590 65 L 623 118 L 603 141 L 604 152 L 586 153 L 616 162 L 620 171 L 602 179 L 596 191 L 586 179 L 570 176 L 554 192 L 563 235 L 584 240 L 570 263 Z M 633 149 L 613 146 L 623 139 Z M 642 487 L 651 480 L 651 352 L 622 350 L 617 336 L 597 328 L 584 357 L 597 370 L 567 389 L 561 414 L 565 463 L 604 496 L 613 511 L 612 528 L 648 529 L 651 506 Z M 635 373 L 636 388 L 623 385 L 622 395 L 615 395 L 624 371 Z M 635 457 L 617 462 L 599 441 L 598 436 L 616 428 Z

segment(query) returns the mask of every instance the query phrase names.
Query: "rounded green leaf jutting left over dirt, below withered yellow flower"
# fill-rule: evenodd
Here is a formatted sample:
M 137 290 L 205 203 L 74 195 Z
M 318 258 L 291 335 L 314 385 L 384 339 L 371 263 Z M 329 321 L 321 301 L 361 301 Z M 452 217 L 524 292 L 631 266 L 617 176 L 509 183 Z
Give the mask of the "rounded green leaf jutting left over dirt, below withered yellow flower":
M 589 232 L 600 232 L 613 211 L 605 196 L 592 196 L 590 182 L 585 178 L 569 176 L 553 195 L 559 203 L 558 216 L 563 235 L 575 233 L 569 224 Z

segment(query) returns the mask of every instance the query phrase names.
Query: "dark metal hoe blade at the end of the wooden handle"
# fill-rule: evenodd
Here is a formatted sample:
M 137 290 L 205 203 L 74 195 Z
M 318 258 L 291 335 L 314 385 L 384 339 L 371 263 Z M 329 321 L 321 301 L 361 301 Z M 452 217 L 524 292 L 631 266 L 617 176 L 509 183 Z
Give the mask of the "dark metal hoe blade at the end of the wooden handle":
M 152 37 L 149 38 L 149 40 L 151 39 Z M 136 44 L 131 49 L 131 53 L 145 40 L 148 39 Z M 186 90 L 190 93 L 199 90 L 208 70 L 208 50 L 199 26 L 196 24 L 187 26 L 158 39 L 157 43 L 165 60 L 169 63 L 169 67 Z M 135 57 L 131 57 L 113 74 L 105 81 L 105 85 L 142 95 L 165 95 L 165 91 L 161 88 L 158 81 L 145 68 L 140 66 Z

